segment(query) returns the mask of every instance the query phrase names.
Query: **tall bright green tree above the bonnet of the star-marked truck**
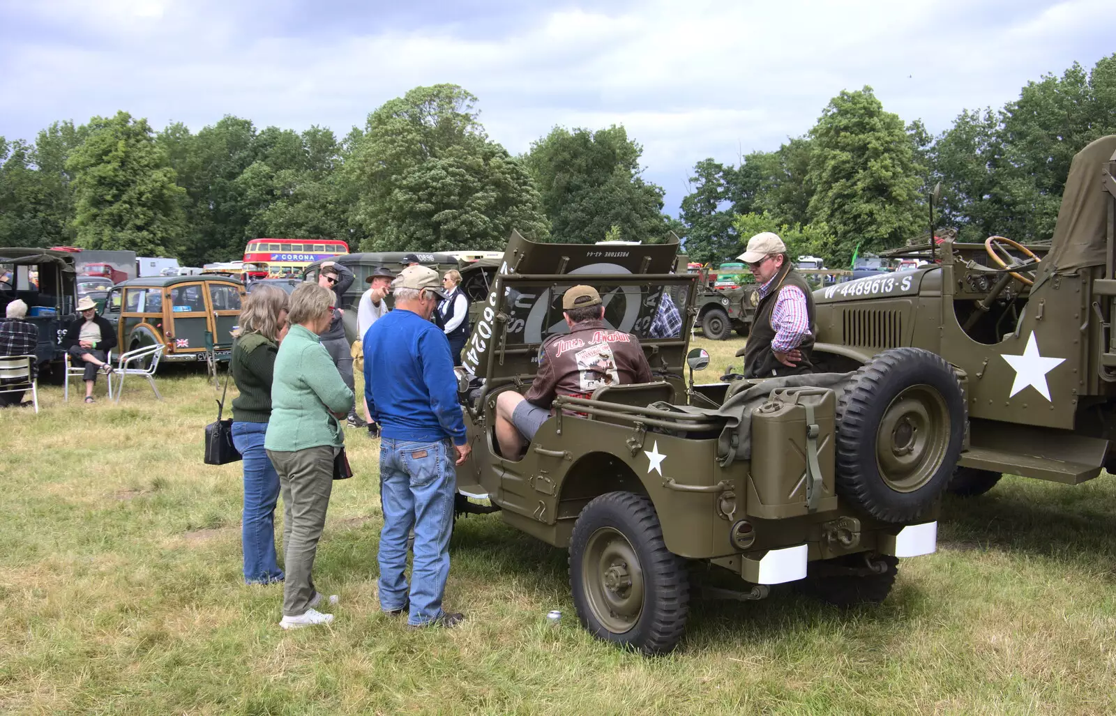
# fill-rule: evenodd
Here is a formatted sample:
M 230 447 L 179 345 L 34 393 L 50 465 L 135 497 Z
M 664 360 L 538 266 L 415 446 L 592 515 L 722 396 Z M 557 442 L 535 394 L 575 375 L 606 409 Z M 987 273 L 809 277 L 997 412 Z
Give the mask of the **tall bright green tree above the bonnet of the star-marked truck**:
M 834 97 L 810 138 L 808 213 L 834 234 L 827 258 L 846 261 L 858 243 L 862 251 L 898 246 L 917 231 L 923 182 L 914 147 L 870 87 Z

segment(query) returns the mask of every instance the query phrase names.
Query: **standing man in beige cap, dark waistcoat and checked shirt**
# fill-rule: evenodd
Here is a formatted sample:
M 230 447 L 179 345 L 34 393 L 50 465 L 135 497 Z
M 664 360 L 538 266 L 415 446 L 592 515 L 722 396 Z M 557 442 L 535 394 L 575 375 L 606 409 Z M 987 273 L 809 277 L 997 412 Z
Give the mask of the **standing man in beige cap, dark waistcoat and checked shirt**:
M 739 257 L 748 264 L 759 288 L 756 321 L 744 349 L 744 376 L 770 378 L 812 372 L 810 349 L 817 333 L 814 296 L 787 253 L 787 245 L 770 231 L 756 234 Z

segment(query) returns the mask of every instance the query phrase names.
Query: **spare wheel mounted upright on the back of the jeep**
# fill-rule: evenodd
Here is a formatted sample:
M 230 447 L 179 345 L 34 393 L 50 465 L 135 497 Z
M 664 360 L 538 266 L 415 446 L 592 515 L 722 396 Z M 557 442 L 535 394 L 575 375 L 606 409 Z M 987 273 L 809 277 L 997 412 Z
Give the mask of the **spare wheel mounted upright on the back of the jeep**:
M 885 522 L 918 519 L 953 477 L 966 416 L 961 384 L 940 356 L 877 354 L 837 404 L 838 493 Z

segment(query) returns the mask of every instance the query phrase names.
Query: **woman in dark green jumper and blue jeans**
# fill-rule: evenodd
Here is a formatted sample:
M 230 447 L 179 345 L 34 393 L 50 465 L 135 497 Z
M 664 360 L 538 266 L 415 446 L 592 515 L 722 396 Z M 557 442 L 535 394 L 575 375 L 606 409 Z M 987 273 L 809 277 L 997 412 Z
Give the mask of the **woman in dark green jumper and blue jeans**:
M 248 294 L 232 344 L 230 370 L 240 395 L 232 399 L 232 444 L 244 457 L 244 512 L 241 542 L 244 581 L 281 582 L 276 561 L 276 503 L 279 474 L 263 449 L 271 418 L 271 376 L 279 341 L 287 333 L 287 293 L 261 286 Z

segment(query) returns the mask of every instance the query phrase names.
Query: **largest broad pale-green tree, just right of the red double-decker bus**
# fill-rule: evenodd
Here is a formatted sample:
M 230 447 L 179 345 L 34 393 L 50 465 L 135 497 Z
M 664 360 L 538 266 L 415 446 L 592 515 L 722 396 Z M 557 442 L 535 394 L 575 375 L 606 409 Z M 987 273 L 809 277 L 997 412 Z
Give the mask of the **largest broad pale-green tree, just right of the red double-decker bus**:
M 365 250 L 498 249 L 512 229 L 546 236 L 527 170 L 488 138 L 475 103 L 456 85 L 416 87 L 352 136 L 338 194 L 357 197 Z

